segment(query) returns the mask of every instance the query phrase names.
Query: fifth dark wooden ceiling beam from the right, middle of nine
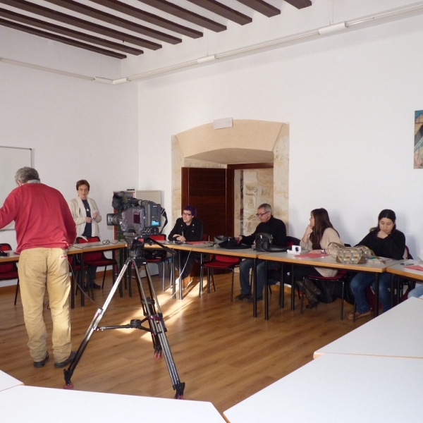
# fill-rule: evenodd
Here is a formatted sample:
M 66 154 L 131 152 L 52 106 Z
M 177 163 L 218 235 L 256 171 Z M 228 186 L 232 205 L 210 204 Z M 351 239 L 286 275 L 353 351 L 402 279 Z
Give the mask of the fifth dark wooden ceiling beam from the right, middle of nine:
M 47 1 L 50 1 L 50 0 L 47 0 Z M 91 1 L 93 3 L 100 4 L 101 6 L 106 6 L 108 8 L 111 8 L 114 11 L 125 13 L 126 15 L 132 16 L 133 18 L 144 20 L 145 22 L 152 23 L 153 25 L 157 25 L 166 30 L 176 32 L 180 35 L 186 35 L 187 37 L 190 37 L 190 38 L 202 37 L 201 31 L 193 30 L 192 28 L 179 25 L 178 23 L 174 23 L 171 20 L 160 18 L 159 16 L 156 16 L 153 13 L 142 11 L 139 8 L 130 6 L 129 4 L 122 3 L 121 1 L 117 1 L 117 0 L 91 0 Z M 68 4 L 69 2 L 70 1 L 68 0 L 62 1 L 62 3 L 66 3 L 66 4 Z M 75 2 L 73 1 L 73 3 Z

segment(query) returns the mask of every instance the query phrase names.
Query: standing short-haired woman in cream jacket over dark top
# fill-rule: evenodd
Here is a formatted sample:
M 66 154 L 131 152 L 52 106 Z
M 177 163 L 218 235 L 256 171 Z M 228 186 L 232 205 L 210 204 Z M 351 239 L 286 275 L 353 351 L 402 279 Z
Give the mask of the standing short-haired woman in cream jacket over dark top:
M 87 180 L 81 179 L 76 183 L 78 197 L 68 202 L 69 209 L 76 225 L 76 236 L 87 238 L 89 236 L 99 236 L 99 222 L 102 221 L 97 203 L 88 197 L 90 184 Z M 90 266 L 90 285 L 99 289 L 101 286 L 94 283 L 97 267 Z

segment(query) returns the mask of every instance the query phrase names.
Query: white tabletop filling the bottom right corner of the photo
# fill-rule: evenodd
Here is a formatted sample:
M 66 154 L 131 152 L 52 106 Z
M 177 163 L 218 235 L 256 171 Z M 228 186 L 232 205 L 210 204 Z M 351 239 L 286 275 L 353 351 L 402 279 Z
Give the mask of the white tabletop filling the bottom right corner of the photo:
M 231 423 L 420 423 L 422 374 L 423 360 L 324 355 L 223 415 Z

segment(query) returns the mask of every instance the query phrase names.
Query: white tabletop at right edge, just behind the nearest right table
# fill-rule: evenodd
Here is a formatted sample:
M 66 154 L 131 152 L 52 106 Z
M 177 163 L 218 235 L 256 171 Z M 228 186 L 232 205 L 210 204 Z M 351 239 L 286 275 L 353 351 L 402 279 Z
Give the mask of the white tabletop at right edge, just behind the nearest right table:
M 422 321 L 423 301 L 410 298 L 320 348 L 314 358 L 322 354 L 423 358 Z

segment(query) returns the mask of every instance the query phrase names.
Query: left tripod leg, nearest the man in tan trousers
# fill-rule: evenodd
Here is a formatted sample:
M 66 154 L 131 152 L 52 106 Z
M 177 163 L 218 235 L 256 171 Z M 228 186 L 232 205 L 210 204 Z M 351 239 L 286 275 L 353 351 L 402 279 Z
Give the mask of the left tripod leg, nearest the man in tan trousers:
M 68 369 L 63 370 L 63 374 L 65 376 L 65 386 L 63 386 L 63 388 L 65 389 L 73 388 L 71 377 L 73 375 L 73 372 L 75 371 L 76 366 L 78 365 L 80 357 L 82 356 L 82 353 L 84 353 L 84 350 L 91 339 L 92 333 L 94 333 L 94 331 L 97 330 L 97 326 L 99 325 L 99 322 L 102 320 L 102 317 L 104 316 L 104 313 L 106 312 L 106 309 L 109 306 L 109 303 L 111 302 L 111 298 L 113 298 L 113 295 L 116 292 L 116 289 L 118 288 L 119 283 L 121 282 L 123 276 L 125 275 L 126 269 L 128 269 L 129 264 L 132 262 L 133 262 L 133 259 L 126 260 L 125 264 L 122 267 L 121 273 L 116 279 L 116 283 L 114 283 L 114 286 L 112 286 L 109 296 L 106 298 L 106 302 L 104 302 L 104 305 L 101 309 L 97 309 L 97 312 L 95 312 L 94 318 L 92 319 L 92 322 L 87 329 L 87 333 L 85 333 L 85 336 L 82 339 L 82 342 L 80 343 L 80 346 L 78 347 L 78 350 L 76 351 L 75 357 L 73 357 L 71 364 L 69 364 Z

